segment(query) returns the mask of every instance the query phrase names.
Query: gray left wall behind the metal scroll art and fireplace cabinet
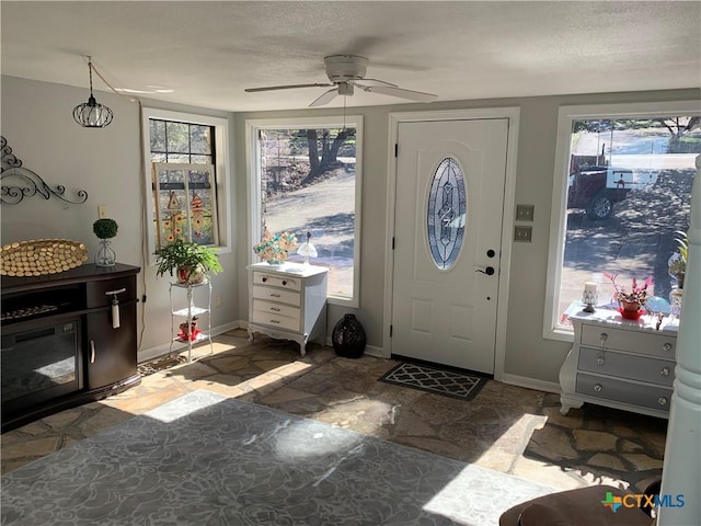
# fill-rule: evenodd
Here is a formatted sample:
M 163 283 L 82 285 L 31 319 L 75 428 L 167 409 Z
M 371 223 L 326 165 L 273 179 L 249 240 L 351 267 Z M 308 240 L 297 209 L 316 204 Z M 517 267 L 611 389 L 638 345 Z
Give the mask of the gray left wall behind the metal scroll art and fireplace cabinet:
M 139 327 L 146 327 L 140 333 L 140 356 L 147 356 L 149 350 L 166 352 L 171 341 L 169 281 L 157 278 L 154 267 L 145 265 L 142 259 L 143 184 L 138 104 L 113 93 L 95 92 L 97 101 L 110 106 L 115 117 L 106 128 L 88 129 L 76 124 L 72 117 L 73 107 L 88 100 L 87 90 L 13 77 L 2 77 L 1 81 L 1 130 L 12 152 L 23 161 L 24 168 L 36 172 L 49 185 L 62 184 L 67 193 L 71 188 L 84 188 L 89 197 L 82 205 L 66 205 L 55 197 L 45 201 L 38 196 L 27 197 L 18 205 L 2 205 L 0 242 L 71 239 L 88 247 L 92 262 L 99 247 L 92 224 L 97 219 L 97 205 L 105 205 L 108 217 L 119 225 L 112 243 L 117 261 L 142 268 L 138 290 L 139 297 L 147 294 L 147 302 L 139 302 L 137 310 Z M 226 112 L 169 106 L 156 101 L 143 101 L 143 105 L 232 118 Z M 229 188 L 229 198 L 235 201 L 233 186 Z M 235 242 L 235 225 L 233 231 Z M 212 278 L 215 291 L 221 294 L 223 300 L 222 306 L 212 311 L 214 327 L 226 327 L 239 316 L 233 254 L 222 253 L 220 260 L 228 272 Z

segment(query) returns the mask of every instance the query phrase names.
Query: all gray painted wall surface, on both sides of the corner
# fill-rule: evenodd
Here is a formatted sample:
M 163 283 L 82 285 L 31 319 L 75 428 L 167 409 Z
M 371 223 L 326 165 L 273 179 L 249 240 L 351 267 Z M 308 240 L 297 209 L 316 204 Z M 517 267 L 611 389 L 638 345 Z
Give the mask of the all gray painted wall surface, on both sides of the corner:
M 34 197 L 13 207 L 3 206 L 1 241 L 65 237 L 84 242 L 91 256 L 97 247 L 92 233 L 96 206 L 107 205 L 111 217 L 119 222 L 114 242 L 119 261 L 143 266 L 141 262 L 141 188 L 139 175 L 138 107 L 116 95 L 100 92 L 97 100 L 115 111 L 114 123 L 105 129 L 82 129 L 72 121 L 71 110 L 85 99 L 85 90 L 30 80 L 2 78 L 2 135 L 14 153 L 50 183 L 84 187 L 87 204 L 65 207 L 60 203 Z M 570 347 L 565 342 L 542 338 L 550 208 L 555 155 L 558 110 L 571 104 L 607 104 L 698 100 L 698 90 L 608 93 L 547 98 L 498 99 L 401 104 L 350 108 L 348 113 L 365 117 L 363 173 L 361 289 L 358 318 L 368 333 L 369 345 L 382 346 L 386 206 L 389 152 L 389 114 L 391 112 L 462 110 L 480 107 L 520 107 L 516 203 L 536 206 L 532 243 L 515 243 L 512 250 L 509 308 L 506 339 L 506 374 L 556 382 L 562 361 Z M 149 105 L 146 104 L 145 105 Z M 163 103 L 154 107 L 182 110 L 222 116 L 221 112 L 175 107 Z M 225 273 L 214 278 L 223 305 L 212 313 L 212 324 L 225 327 L 248 318 L 245 265 L 251 248 L 248 240 L 245 173 L 245 121 L 251 118 L 337 115 L 340 110 L 256 112 L 229 115 L 233 137 L 232 176 L 234 253 L 222 254 Z M 510 231 L 513 225 L 506 225 Z M 168 286 L 156 279 L 153 268 L 142 272 L 148 293 L 142 350 L 165 345 L 170 339 Z M 139 310 L 141 313 L 141 310 Z M 344 310 L 329 310 L 329 331 Z

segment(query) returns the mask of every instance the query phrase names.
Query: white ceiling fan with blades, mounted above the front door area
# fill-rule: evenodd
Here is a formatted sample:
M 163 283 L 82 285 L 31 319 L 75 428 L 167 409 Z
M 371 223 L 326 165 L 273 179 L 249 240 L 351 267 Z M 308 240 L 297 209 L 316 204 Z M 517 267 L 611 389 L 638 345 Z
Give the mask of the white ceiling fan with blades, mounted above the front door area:
M 266 88 L 248 88 L 243 91 L 255 93 L 258 91 L 292 90 L 297 88 L 331 88 L 331 90 L 322 93 L 309 104 L 312 107 L 329 104 L 336 95 L 353 95 L 355 88 L 368 93 L 399 96 L 400 99 L 416 102 L 432 102 L 438 96 L 423 91 L 405 90 L 383 80 L 366 79 L 368 59 L 357 55 L 330 55 L 324 57 L 324 65 L 331 83 L 271 85 Z

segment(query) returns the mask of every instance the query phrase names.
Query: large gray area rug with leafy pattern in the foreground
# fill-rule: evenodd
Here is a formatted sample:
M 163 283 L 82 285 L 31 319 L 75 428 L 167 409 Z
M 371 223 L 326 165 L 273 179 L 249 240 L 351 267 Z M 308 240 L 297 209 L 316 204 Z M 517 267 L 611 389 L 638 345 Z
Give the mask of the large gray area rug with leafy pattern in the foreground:
M 2 477 L 11 525 L 475 525 L 555 491 L 194 391 Z

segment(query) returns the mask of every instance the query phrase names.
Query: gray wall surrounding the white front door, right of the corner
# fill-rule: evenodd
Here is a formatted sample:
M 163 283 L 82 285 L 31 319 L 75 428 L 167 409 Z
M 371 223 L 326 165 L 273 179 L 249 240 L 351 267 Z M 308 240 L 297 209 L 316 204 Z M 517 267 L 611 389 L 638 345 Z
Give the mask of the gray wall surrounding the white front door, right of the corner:
M 572 346 L 568 343 L 542 338 L 543 309 L 550 235 L 550 211 L 554 156 L 558 127 L 558 111 L 561 105 L 609 104 L 628 102 L 655 102 L 698 100 L 698 90 L 676 90 L 635 93 L 608 93 L 567 96 L 543 96 L 522 99 L 494 99 L 480 101 L 445 102 L 433 104 L 401 104 L 393 106 L 354 107 L 348 111 L 365 117 L 364 173 L 363 173 L 363 239 L 360 309 L 357 312 L 368 334 L 368 344 L 382 346 L 383 319 L 384 228 L 387 205 L 387 167 L 390 151 L 389 115 L 392 112 L 439 111 L 484 107 L 520 107 L 520 129 L 516 175 L 516 203 L 536 206 L 532 243 L 514 243 L 512 250 L 509 307 L 506 335 L 505 374 L 510 377 L 540 382 L 556 382 L 560 365 Z M 237 141 L 237 173 L 245 172 L 245 121 L 271 117 L 299 117 L 309 111 L 239 113 L 234 117 Z M 318 115 L 338 114 L 338 110 L 318 111 Z M 238 181 L 239 195 L 245 193 L 245 181 Z M 241 206 L 241 204 L 240 204 Z M 241 210 L 243 211 L 243 210 Z M 241 221 L 244 217 L 239 218 Z M 508 231 L 513 225 L 505 225 Z M 248 254 L 239 254 L 239 283 L 243 290 Z M 239 298 L 239 308 L 245 312 L 245 294 Z M 329 324 L 342 318 L 344 309 L 331 306 Z

